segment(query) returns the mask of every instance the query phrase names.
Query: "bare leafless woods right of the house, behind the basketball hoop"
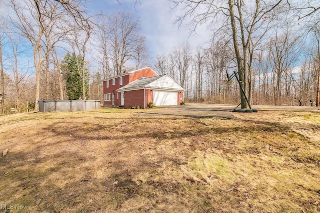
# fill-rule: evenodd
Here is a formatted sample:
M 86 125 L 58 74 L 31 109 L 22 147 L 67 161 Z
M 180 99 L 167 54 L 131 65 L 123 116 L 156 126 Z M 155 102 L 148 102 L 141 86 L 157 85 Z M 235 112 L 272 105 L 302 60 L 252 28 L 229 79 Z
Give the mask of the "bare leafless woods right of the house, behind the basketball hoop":
M 259 43 L 249 69 L 248 99 L 253 105 L 315 106 L 319 83 L 319 31 L 284 31 Z M 157 55 L 154 67 L 168 73 L 186 91 L 187 102 L 236 104 L 239 86 L 231 40 L 215 39 L 195 51 L 183 42 Z

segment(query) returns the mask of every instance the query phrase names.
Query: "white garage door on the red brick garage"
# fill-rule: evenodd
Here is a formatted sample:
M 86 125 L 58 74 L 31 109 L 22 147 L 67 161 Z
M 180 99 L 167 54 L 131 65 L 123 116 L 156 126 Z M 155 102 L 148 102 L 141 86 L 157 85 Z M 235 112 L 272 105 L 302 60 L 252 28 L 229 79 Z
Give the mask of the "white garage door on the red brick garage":
M 177 92 L 153 90 L 153 103 L 155 106 L 177 105 L 178 94 Z

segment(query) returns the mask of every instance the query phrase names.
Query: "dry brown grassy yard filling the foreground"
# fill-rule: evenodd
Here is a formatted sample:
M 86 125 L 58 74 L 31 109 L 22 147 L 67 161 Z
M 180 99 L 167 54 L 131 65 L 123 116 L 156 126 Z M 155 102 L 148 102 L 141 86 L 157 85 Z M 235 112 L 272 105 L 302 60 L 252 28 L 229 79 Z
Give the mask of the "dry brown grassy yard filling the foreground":
M 320 212 L 319 109 L 158 110 L 0 117 L 1 212 Z

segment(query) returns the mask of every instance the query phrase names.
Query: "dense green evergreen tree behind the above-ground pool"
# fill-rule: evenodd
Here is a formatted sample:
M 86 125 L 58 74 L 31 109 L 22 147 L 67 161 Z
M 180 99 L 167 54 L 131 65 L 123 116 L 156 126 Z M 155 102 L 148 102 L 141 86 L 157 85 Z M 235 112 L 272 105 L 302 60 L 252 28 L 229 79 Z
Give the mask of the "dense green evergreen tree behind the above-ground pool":
M 82 79 L 77 69 L 77 63 L 79 64 L 80 69 L 83 66 L 83 60 L 80 56 L 75 56 L 67 52 L 61 62 L 61 71 L 63 79 L 65 80 L 65 89 L 66 95 L 70 100 L 77 100 L 80 97 L 83 97 L 82 94 Z M 88 70 L 85 73 L 85 96 L 88 94 L 89 86 L 89 75 Z

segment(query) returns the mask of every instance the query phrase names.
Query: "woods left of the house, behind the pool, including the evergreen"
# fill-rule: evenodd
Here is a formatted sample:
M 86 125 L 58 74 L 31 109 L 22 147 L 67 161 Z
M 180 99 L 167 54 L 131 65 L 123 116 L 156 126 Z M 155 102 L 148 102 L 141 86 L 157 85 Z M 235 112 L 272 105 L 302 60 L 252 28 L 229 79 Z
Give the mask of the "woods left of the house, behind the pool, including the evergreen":
M 39 99 L 102 99 L 102 79 L 149 65 L 139 17 L 93 15 L 85 1 L 1 1 L 2 113 Z

